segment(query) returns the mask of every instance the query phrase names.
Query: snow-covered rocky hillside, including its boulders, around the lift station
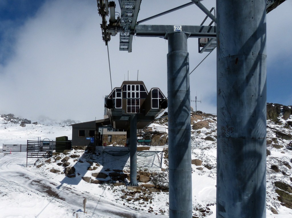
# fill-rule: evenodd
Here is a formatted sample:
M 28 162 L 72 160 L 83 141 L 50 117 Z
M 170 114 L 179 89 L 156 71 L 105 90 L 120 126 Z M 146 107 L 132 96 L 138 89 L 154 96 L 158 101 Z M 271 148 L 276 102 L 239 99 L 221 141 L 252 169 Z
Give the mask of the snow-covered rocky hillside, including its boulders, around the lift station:
M 283 110 L 278 110 L 276 120 L 267 121 L 268 218 L 292 216 L 291 121 L 291 112 L 287 118 Z M 216 122 L 212 114 L 191 113 L 193 217 L 215 218 Z M 2 143 L 25 144 L 38 137 L 71 139 L 69 125 L 20 124 L 0 118 L 0 148 Z M 153 125 L 167 128 L 167 117 Z M 26 153 L 0 153 L 0 217 L 168 217 L 168 148 L 150 149 L 164 150 L 162 168 L 159 155 L 140 153 L 141 190 L 126 189 L 128 155 L 72 150 L 28 159 L 26 168 Z

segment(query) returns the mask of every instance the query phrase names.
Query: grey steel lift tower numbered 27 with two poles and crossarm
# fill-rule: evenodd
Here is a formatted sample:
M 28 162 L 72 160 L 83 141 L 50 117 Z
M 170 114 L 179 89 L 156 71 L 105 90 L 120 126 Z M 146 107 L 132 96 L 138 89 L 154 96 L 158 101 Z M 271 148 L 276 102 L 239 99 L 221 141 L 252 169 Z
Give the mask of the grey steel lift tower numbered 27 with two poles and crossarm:
M 120 50 L 132 51 L 132 37 L 168 40 L 169 217 L 192 217 L 190 80 L 187 39 L 199 38 L 199 52 L 217 47 L 217 218 L 265 217 L 266 13 L 285 0 L 216 0 L 217 14 L 202 0 L 137 22 L 141 0 L 97 0 L 102 36 L 120 32 Z M 195 4 L 212 22 L 204 26 L 140 23 Z M 215 10 L 214 10 L 215 12 Z M 217 26 L 211 26 L 217 23 Z

